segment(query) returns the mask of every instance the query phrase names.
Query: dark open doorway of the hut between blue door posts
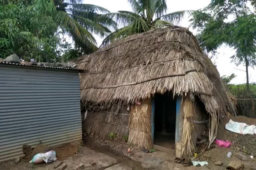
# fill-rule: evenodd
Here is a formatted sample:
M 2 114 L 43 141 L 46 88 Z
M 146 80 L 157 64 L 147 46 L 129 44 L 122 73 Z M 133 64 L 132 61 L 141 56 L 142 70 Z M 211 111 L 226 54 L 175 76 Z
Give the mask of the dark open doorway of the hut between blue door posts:
M 155 94 L 154 145 L 174 149 L 176 98 L 172 93 Z

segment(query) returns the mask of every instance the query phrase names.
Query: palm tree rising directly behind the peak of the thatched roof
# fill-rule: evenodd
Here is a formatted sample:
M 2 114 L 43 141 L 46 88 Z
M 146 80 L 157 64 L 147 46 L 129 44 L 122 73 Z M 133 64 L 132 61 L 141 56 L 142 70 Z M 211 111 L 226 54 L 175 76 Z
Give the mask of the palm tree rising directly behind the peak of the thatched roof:
M 191 13 L 191 11 L 185 10 L 166 14 L 166 0 L 128 0 L 128 2 L 133 12 L 118 11 L 117 13 L 105 14 L 105 16 L 121 23 L 123 27 L 108 35 L 101 46 L 132 34 L 147 32 L 150 29 L 171 23 L 177 24 L 186 13 Z

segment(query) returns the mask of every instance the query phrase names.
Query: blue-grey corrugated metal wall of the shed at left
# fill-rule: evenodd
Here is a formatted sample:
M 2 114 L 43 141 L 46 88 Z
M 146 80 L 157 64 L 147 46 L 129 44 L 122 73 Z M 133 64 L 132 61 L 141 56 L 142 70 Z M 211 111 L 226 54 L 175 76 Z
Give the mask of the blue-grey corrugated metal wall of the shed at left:
M 77 70 L 0 65 L 0 161 L 81 138 Z

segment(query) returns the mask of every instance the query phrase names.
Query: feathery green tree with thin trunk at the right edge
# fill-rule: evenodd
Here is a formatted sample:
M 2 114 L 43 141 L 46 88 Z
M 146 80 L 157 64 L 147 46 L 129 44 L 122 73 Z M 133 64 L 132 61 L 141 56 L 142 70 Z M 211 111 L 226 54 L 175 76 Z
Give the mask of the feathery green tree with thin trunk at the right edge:
M 222 44 L 236 50 L 231 56 L 246 67 L 246 85 L 250 95 L 248 67 L 256 65 L 256 17 L 248 3 L 255 0 L 212 0 L 206 8 L 193 13 L 192 26 L 206 52 L 215 53 Z M 254 109 L 254 108 L 253 108 Z

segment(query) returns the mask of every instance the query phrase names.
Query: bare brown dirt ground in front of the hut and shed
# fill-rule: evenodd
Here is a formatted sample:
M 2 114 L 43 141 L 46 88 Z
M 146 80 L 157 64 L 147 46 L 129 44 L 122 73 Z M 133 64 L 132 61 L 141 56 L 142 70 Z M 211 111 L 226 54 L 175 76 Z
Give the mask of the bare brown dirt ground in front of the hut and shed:
M 242 116 L 225 118 L 220 122 L 218 128 L 217 138 L 221 140 L 229 140 L 232 142 L 229 148 L 219 147 L 213 144 L 211 150 L 205 150 L 195 160 L 207 161 L 208 166 L 195 167 L 195 166 L 184 166 L 174 161 L 175 150 L 173 153 L 165 153 L 156 151 L 152 153 L 144 153 L 141 149 L 135 145 L 110 141 L 100 140 L 97 136 L 83 136 L 83 141 L 72 143 L 78 146 L 78 153 L 73 154 L 69 152 L 69 149 L 61 147 L 61 150 L 67 150 L 69 156 L 63 160 L 68 166 L 66 170 L 73 170 L 76 165 L 83 163 L 85 165 L 84 170 L 224 170 L 231 161 L 242 162 L 244 169 L 250 169 L 256 165 L 256 136 L 255 135 L 242 135 L 233 133 L 225 129 L 226 123 L 232 119 L 237 122 L 244 122 L 248 125 L 256 124 L 256 119 L 250 119 Z M 131 152 L 128 152 L 128 149 Z M 226 155 L 228 152 L 232 152 L 232 156 L 228 158 Z M 237 154 L 242 153 L 248 160 L 241 161 L 237 158 Z M 254 158 L 251 159 L 250 156 Z M 65 155 L 64 155 L 65 156 Z M 214 165 L 215 161 L 221 161 L 222 166 Z M 53 170 L 56 163 L 60 160 L 49 164 L 31 164 L 28 162 L 15 163 L 15 160 L 9 160 L 0 162 L 0 170 Z M 93 162 L 93 164 L 92 164 Z M 94 164 L 95 163 L 95 164 Z

